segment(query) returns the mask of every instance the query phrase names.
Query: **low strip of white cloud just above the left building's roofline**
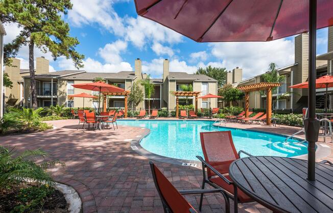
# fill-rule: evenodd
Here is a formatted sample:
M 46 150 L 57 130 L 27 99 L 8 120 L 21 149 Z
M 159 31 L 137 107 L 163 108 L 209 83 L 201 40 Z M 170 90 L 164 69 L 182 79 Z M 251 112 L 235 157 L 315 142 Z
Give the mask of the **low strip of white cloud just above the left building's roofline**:
M 120 63 L 101 63 L 100 61 L 94 60 L 92 58 L 87 58 L 83 60 L 84 67 L 80 70 L 85 70 L 88 72 L 119 72 L 119 71 L 132 71 L 132 67 L 128 62 Z M 62 70 L 76 70 L 72 59 L 66 59 L 65 57 L 60 57 L 58 61 L 58 67 Z

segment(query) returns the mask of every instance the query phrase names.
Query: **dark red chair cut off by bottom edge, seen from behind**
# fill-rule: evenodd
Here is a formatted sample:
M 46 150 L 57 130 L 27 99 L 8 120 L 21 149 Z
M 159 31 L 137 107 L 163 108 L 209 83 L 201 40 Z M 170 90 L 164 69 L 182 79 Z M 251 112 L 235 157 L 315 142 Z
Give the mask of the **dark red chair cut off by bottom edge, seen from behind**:
M 177 190 L 163 173 L 149 162 L 153 180 L 158 195 L 162 201 L 164 213 L 196 213 L 197 211 L 189 204 L 182 195 L 195 195 L 207 193 L 221 193 L 221 189 L 189 189 Z

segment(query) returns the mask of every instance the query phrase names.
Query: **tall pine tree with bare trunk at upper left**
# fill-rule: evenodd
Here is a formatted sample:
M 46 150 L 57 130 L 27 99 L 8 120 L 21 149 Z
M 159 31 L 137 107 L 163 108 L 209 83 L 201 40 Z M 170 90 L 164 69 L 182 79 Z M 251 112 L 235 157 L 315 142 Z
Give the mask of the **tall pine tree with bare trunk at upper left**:
M 72 9 L 70 0 L 2 0 L 0 20 L 2 23 L 16 23 L 20 33 L 4 46 L 5 62 L 15 57 L 22 46 L 29 47 L 29 70 L 31 78 L 32 107 L 37 108 L 37 91 L 34 69 L 34 48 L 43 53 L 51 52 L 56 60 L 60 56 L 72 59 L 75 67 L 83 67 L 84 55 L 75 48 L 79 41 L 69 35 L 69 25 L 62 16 Z

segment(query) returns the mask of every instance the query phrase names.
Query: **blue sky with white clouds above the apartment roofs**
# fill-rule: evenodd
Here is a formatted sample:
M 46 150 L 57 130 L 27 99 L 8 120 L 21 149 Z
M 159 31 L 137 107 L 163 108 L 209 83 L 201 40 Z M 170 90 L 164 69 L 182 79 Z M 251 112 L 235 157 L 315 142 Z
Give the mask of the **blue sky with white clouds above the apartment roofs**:
M 134 1 L 72 0 L 73 10 L 64 20 L 70 34 L 79 39 L 77 51 L 85 55 L 83 70 L 118 72 L 134 69 L 135 58 L 142 60 L 142 70 L 158 78 L 162 60 L 170 60 L 170 70 L 193 73 L 199 67 L 243 68 L 243 78 L 267 71 L 270 62 L 279 67 L 294 62 L 294 36 L 271 42 L 197 43 L 151 20 L 138 17 Z M 5 26 L 12 40 L 19 32 L 16 25 Z M 317 54 L 327 52 L 327 29 L 318 30 Z M 52 60 L 49 53 L 35 50 L 35 56 L 50 60 L 50 69 L 75 69 L 63 57 Z M 28 49 L 18 54 L 21 67 L 28 68 Z

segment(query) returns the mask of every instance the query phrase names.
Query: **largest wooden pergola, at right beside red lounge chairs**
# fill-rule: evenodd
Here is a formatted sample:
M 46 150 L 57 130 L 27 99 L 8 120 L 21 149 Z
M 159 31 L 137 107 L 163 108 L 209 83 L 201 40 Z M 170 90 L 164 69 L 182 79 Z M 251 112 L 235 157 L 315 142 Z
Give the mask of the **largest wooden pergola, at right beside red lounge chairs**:
M 245 92 L 245 117 L 249 117 L 249 92 L 266 90 L 266 124 L 271 125 L 272 117 L 272 88 L 280 87 L 281 83 L 270 83 L 270 82 L 261 82 L 246 85 L 243 87 L 237 87 L 239 90 Z

